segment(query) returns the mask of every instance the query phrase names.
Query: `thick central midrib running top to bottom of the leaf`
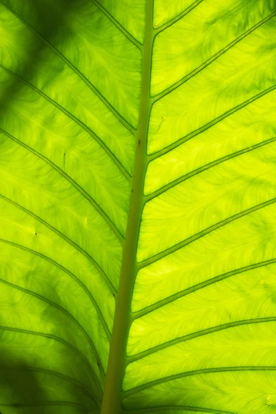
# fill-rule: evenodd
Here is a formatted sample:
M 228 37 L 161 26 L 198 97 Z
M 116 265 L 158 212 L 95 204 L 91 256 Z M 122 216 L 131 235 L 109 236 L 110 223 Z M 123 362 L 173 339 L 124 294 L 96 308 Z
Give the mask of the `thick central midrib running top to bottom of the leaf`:
M 146 29 L 142 56 L 141 105 L 136 140 L 135 170 L 132 181 L 132 199 L 126 240 L 124 242 L 121 276 L 116 299 L 115 319 L 110 344 L 106 384 L 103 393 L 101 414 L 121 414 L 123 398 L 122 382 L 126 369 L 126 344 L 131 323 L 131 297 L 137 274 L 137 244 L 141 213 L 144 205 L 144 178 L 147 166 L 147 135 L 150 118 L 150 70 L 152 60 L 153 1 L 146 0 Z

